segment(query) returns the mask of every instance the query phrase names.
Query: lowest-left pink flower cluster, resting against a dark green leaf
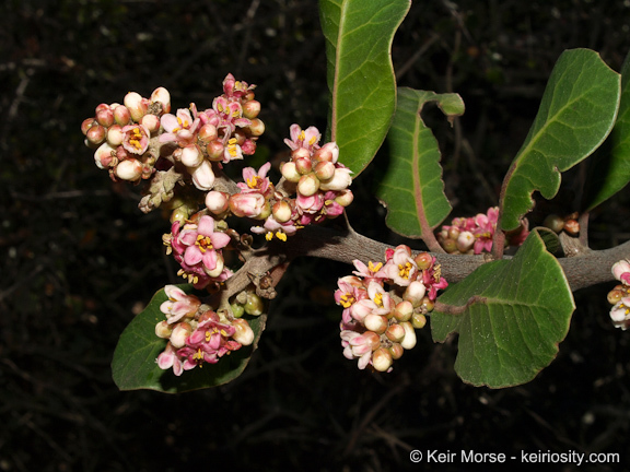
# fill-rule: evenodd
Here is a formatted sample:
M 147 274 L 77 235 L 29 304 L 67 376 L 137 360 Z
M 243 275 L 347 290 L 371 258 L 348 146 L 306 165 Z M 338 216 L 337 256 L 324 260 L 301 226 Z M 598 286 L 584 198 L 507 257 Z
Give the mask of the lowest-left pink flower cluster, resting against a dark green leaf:
M 166 320 L 155 326 L 155 334 L 168 343 L 158 356 L 160 368 L 173 368 L 173 373 L 180 376 L 184 370 L 203 363 L 217 364 L 224 355 L 254 341 L 247 320 L 217 314 L 175 285 L 166 285 L 164 292 L 168 299 L 160 310 Z

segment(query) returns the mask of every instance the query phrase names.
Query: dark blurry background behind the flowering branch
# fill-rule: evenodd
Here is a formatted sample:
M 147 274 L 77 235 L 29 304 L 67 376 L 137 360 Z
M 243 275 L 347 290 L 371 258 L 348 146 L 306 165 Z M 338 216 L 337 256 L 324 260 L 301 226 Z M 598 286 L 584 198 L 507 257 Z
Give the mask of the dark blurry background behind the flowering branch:
M 393 47 L 399 85 L 458 92 L 467 105 L 454 130 L 427 117 L 454 216 L 497 203 L 561 51 L 590 47 L 619 70 L 629 19 L 629 1 L 413 3 Z M 619 452 L 621 464 L 581 470 L 629 470 L 629 342 L 608 319 L 611 286 L 575 294 L 569 335 L 534 381 L 489 390 L 464 385 L 455 345 L 433 345 L 428 329 L 392 374 L 359 371 L 341 355 L 331 297 L 351 268 L 298 260 L 237 380 L 180 396 L 118 391 L 117 338 L 177 282 L 176 268 L 161 244 L 167 223 L 138 211 L 138 187 L 96 168 L 81 121 L 102 102 L 160 85 L 175 109 L 203 109 L 232 72 L 258 84 L 258 158 L 276 156 L 291 123 L 325 128 L 325 67 L 315 1 L 2 2 L 0 471 L 468 470 L 412 465 L 411 449 Z M 575 210 L 575 179 L 565 175 L 565 197 L 533 224 Z M 366 172 L 353 185 L 350 221 L 397 243 L 370 180 Z M 593 246 L 628 238 L 627 200 L 596 212 Z

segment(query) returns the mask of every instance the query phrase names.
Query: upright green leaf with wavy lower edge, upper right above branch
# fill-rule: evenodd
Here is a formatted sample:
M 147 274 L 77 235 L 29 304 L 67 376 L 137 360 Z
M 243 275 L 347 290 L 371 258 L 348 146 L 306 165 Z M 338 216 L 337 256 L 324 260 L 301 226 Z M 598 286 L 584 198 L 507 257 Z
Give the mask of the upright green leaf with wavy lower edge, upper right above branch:
M 551 199 L 560 172 L 584 160 L 606 139 L 617 116 L 619 74 L 588 49 L 564 51 L 549 78 L 538 115 L 514 158 L 501 196 L 501 227 L 516 229 L 538 190 Z

